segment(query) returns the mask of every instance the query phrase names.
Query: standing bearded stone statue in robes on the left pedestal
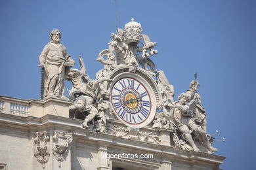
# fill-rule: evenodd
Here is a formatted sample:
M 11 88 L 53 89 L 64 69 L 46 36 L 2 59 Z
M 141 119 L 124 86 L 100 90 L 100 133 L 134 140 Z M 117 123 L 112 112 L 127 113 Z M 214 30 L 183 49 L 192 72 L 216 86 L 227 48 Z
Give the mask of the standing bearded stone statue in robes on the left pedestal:
M 40 65 L 44 69 L 44 94 L 43 97 L 55 95 L 64 97 L 64 80 L 70 67 L 75 64 L 66 47 L 60 44 L 61 33 L 53 29 L 49 42 L 39 56 Z

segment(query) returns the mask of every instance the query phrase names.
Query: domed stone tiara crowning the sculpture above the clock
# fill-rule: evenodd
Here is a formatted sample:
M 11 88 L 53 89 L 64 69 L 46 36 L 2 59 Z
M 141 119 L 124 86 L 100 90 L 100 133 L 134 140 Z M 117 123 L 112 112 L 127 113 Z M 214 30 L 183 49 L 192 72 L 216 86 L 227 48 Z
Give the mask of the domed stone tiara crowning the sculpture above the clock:
M 123 31 L 123 35 L 125 37 L 125 41 L 127 44 L 135 43 L 138 44 L 140 42 L 140 37 L 142 34 L 142 27 L 139 22 L 135 22 L 133 18 L 131 18 L 131 22 L 125 24 L 125 29 Z

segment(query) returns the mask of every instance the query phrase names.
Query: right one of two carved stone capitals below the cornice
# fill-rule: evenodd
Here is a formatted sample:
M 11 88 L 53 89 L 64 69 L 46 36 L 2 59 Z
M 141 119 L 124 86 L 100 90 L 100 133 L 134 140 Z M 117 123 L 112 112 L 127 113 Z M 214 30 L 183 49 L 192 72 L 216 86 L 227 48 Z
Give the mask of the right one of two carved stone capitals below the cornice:
M 73 140 L 72 133 L 55 131 L 53 136 L 53 155 L 58 162 L 64 161 L 68 155 L 68 143 Z

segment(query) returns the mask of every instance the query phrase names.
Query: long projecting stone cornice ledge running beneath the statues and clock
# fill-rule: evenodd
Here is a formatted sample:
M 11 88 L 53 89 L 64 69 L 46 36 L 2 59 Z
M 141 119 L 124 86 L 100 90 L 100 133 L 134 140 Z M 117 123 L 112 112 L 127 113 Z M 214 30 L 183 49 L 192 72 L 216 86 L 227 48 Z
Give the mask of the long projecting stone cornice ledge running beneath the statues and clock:
M 124 150 L 133 148 L 142 152 L 152 154 L 164 154 L 172 159 L 184 159 L 187 161 L 204 161 L 206 163 L 221 164 L 225 159 L 224 156 L 216 154 L 208 154 L 205 152 L 186 152 L 175 148 L 173 146 L 163 146 L 159 144 L 146 143 L 142 141 L 134 141 L 131 139 L 125 139 L 116 137 L 106 133 L 96 133 L 87 129 L 81 128 L 81 122 L 83 120 L 77 120 L 74 118 L 65 118 L 61 116 L 55 116 L 47 114 L 41 118 L 35 118 L 32 116 L 21 117 L 12 114 L 0 113 L 0 124 L 9 124 L 9 126 L 22 126 L 22 127 L 40 127 L 40 126 L 54 126 L 65 127 L 68 132 L 73 133 L 75 139 L 92 141 L 92 142 L 104 142 L 109 144 L 109 147 L 121 147 Z

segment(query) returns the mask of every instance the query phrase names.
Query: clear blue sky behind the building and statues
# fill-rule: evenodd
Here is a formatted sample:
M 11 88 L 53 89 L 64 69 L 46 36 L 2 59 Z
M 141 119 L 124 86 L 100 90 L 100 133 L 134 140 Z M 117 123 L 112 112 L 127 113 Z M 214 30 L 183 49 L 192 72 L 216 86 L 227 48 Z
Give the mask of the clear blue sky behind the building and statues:
M 52 29 L 88 73 L 102 69 L 95 61 L 116 30 L 114 0 L 0 1 L 0 94 L 39 99 L 38 56 Z M 165 71 L 175 99 L 188 89 L 194 73 L 207 109 L 208 131 L 219 130 L 216 154 L 227 156 L 223 169 L 256 169 L 255 63 L 256 1 L 116 0 L 117 25 L 131 18 L 158 42 L 152 60 Z M 70 89 L 70 84 L 68 84 Z

